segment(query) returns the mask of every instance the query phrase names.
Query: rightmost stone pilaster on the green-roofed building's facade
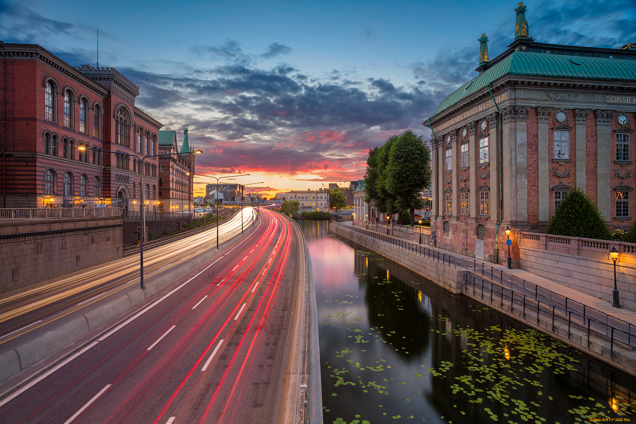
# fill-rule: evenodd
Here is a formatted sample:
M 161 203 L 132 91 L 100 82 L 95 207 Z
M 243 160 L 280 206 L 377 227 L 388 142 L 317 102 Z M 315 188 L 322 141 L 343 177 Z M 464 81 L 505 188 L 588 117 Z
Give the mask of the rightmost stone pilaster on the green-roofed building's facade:
M 605 221 L 610 220 L 610 122 L 612 111 L 597 109 L 597 205 L 600 212 L 605 217 Z M 578 177 L 577 177 L 578 179 Z

